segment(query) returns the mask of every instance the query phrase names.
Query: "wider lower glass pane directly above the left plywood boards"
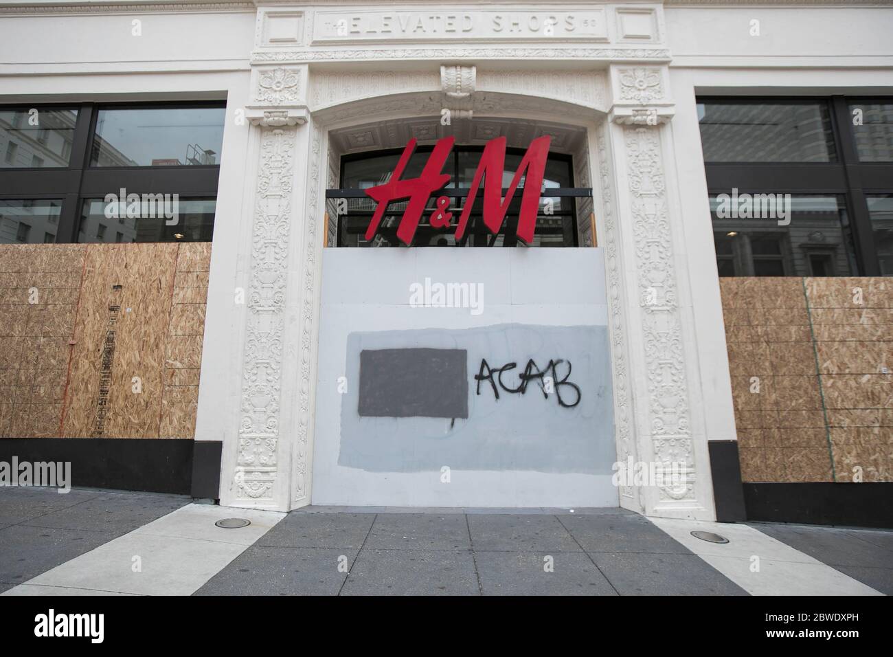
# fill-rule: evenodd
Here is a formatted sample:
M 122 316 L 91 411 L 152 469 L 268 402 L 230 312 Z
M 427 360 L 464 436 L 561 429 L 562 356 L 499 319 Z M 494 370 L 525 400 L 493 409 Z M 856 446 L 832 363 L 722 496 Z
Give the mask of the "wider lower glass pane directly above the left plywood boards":
M 82 208 L 78 241 L 211 241 L 215 207 L 213 198 L 176 198 L 171 194 L 144 194 L 139 202 L 129 205 L 90 198 Z

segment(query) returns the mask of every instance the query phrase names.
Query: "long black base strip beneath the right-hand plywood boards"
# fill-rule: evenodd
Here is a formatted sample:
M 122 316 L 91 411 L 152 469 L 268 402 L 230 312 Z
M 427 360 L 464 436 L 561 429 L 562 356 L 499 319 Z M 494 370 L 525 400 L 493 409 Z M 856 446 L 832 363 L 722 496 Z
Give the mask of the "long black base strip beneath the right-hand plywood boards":
M 747 519 L 893 528 L 893 482 L 744 484 Z

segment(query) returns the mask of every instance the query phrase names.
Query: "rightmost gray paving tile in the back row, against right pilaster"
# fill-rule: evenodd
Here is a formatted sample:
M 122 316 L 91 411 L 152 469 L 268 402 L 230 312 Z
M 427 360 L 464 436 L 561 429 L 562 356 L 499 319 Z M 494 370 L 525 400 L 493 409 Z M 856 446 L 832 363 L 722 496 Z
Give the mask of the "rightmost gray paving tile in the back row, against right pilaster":
M 682 543 L 638 514 L 573 516 L 561 521 L 586 552 L 691 554 Z

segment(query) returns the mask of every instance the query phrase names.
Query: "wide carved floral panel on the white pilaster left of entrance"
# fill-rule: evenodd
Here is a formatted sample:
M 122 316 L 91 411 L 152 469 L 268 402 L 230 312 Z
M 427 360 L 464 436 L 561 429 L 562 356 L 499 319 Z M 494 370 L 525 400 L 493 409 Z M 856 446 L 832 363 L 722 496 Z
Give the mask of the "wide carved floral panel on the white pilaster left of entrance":
M 278 470 L 295 137 L 296 128 L 263 129 L 261 137 L 235 473 L 241 500 L 271 499 Z

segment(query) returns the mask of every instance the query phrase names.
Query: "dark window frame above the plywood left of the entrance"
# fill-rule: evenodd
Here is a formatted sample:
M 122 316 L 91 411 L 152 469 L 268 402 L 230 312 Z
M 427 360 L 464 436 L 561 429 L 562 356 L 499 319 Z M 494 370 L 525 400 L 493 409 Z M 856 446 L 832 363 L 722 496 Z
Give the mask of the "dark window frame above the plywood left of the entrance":
M 77 244 L 80 214 L 88 198 L 104 198 L 124 188 L 135 194 L 179 194 L 180 198 L 217 198 L 220 164 L 164 166 L 91 166 L 93 137 L 99 109 L 165 109 L 174 107 L 222 107 L 225 100 L 164 102 L 14 103 L 0 110 L 28 112 L 77 109 L 71 155 L 65 167 L 0 168 L 0 199 L 59 198 L 62 212 L 56 244 Z M 49 191 L 47 191 L 49 190 Z

